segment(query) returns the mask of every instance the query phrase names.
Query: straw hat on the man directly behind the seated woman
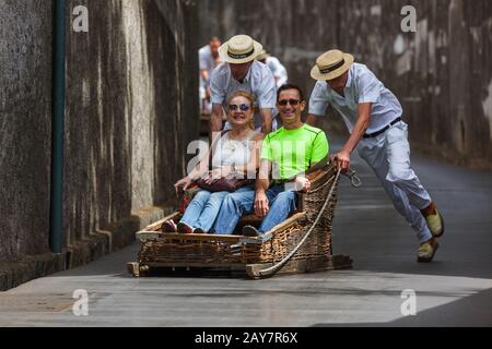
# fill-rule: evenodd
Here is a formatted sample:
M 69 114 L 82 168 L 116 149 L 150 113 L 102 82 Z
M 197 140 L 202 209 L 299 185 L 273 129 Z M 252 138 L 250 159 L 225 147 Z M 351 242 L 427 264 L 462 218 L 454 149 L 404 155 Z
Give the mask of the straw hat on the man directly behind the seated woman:
M 223 62 L 242 64 L 256 59 L 262 49 L 261 44 L 249 36 L 237 35 L 221 46 L 219 56 Z

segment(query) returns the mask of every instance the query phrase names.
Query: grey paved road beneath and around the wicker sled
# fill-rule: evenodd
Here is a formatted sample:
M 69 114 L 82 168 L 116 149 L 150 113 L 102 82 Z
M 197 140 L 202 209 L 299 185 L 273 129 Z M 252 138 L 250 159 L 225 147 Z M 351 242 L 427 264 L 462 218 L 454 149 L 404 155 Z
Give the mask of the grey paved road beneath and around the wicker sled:
M 354 268 L 244 278 L 142 278 L 126 274 L 137 245 L 96 263 L 0 293 L 1 326 L 491 326 L 492 172 L 414 159 L 446 219 L 431 264 L 415 262 L 413 231 L 359 159 L 364 185 L 343 179 L 335 252 Z M 89 316 L 74 316 L 72 292 L 90 293 Z M 403 316 L 402 290 L 417 294 Z

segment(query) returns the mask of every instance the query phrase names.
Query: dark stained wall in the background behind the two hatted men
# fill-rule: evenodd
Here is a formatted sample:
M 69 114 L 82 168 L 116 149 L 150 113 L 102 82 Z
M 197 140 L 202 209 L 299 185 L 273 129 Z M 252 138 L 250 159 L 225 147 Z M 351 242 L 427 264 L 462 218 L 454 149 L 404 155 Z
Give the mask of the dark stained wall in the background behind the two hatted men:
M 417 33 L 400 28 L 405 5 Z M 399 97 L 414 149 L 492 167 L 491 1 L 203 0 L 200 13 L 200 44 L 247 33 L 309 92 L 319 53 L 354 53 Z

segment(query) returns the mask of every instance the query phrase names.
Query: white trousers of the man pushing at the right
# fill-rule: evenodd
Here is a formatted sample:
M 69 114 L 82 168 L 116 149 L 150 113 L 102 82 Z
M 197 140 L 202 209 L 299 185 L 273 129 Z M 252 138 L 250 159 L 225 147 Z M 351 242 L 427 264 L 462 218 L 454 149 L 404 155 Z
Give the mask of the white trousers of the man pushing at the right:
M 419 242 L 430 240 L 432 233 L 420 210 L 431 204 L 431 196 L 410 164 L 408 125 L 400 121 L 376 137 L 362 140 L 358 152 L 376 173 L 395 208 L 415 230 Z

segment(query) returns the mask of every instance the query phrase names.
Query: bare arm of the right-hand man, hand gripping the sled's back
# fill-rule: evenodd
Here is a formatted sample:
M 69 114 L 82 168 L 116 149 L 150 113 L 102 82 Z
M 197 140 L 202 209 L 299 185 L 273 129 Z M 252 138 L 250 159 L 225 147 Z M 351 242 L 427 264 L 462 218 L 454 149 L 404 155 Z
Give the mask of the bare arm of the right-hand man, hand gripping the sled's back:
M 371 103 L 363 103 L 359 105 L 358 122 L 355 123 L 352 134 L 350 135 L 345 145 L 343 145 L 342 149 L 333 156 L 339 168 L 341 168 L 342 170 L 350 169 L 350 155 L 352 154 L 353 149 L 355 149 L 368 128 L 372 107 L 373 104 Z

